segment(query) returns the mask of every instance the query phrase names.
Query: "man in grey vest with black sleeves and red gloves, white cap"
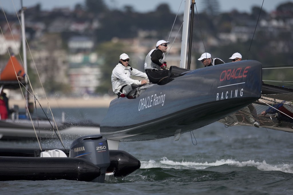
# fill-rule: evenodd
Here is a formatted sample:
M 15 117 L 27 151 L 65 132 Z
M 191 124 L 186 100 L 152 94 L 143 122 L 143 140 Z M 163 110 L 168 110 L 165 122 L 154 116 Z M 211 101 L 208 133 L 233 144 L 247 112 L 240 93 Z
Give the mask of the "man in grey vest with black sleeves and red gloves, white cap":
M 169 41 L 159 40 L 156 49 L 152 49 L 144 61 L 144 70 L 151 83 L 159 83 L 163 78 L 167 78 L 169 70 L 166 70 L 164 53 L 167 52 Z

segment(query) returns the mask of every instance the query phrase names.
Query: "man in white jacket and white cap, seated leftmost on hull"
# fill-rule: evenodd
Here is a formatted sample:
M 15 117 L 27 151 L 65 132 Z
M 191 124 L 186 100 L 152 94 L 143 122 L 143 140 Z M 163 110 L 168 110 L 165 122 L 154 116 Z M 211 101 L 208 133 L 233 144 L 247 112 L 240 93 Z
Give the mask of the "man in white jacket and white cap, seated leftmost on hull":
M 138 81 L 130 78 L 130 75 L 134 75 L 147 79 L 147 74 L 132 68 L 128 64 L 129 60 L 127 54 L 121 54 L 119 64 L 115 66 L 111 76 L 113 92 L 122 98 L 126 97 L 132 89 L 148 83 L 147 80 Z

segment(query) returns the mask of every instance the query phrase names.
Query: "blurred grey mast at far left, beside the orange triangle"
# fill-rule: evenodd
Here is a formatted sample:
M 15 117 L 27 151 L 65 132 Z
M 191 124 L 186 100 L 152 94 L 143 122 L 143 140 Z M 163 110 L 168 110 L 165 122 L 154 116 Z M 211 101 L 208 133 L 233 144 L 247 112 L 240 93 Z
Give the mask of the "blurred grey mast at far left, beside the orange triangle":
M 22 0 L 21 0 L 21 26 L 22 26 L 21 35 L 22 35 L 22 50 L 23 50 L 23 66 L 24 66 L 25 74 L 27 74 L 28 67 L 26 62 L 24 10 L 25 10 L 25 7 L 23 7 Z M 25 88 L 26 88 L 25 101 L 26 101 L 26 105 L 28 106 L 28 85 L 27 84 L 25 84 Z M 28 110 L 26 111 L 26 116 L 28 117 Z

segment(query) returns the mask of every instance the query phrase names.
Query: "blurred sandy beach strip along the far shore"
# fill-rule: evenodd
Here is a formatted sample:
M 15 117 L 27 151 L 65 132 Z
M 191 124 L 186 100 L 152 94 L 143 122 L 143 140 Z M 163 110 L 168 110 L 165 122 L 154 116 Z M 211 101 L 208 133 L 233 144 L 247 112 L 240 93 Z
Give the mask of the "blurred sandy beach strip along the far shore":
M 117 96 L 108 97 L 89 97 L 89 98 L 45 98 L 39 99 L 40 105 L 42 107 L 47 107 L 49 105 L 51 108 L 64 108 L 64 107 L 109 107 L 110 102 Z M 30 102 L 34 100 L 31 99 Z M 36 102 L 37 107 L 39 106 Z M 13 105 L 18 105 L 19 108 L 25 107 L 24 100 L 9 99 L 9 107 Z

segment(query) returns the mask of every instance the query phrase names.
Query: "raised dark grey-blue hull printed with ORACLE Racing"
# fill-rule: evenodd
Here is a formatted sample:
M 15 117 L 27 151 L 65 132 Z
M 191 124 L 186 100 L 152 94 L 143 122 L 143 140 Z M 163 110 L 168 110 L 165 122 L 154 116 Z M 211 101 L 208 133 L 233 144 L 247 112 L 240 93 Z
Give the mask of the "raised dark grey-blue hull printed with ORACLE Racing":
M 213 123 L 261 96 L 258 61 L 241 61 L 190 70 L 167 84 L 149 84 L 116 98 L 100 125 L 115 141 L 174 136 Z

